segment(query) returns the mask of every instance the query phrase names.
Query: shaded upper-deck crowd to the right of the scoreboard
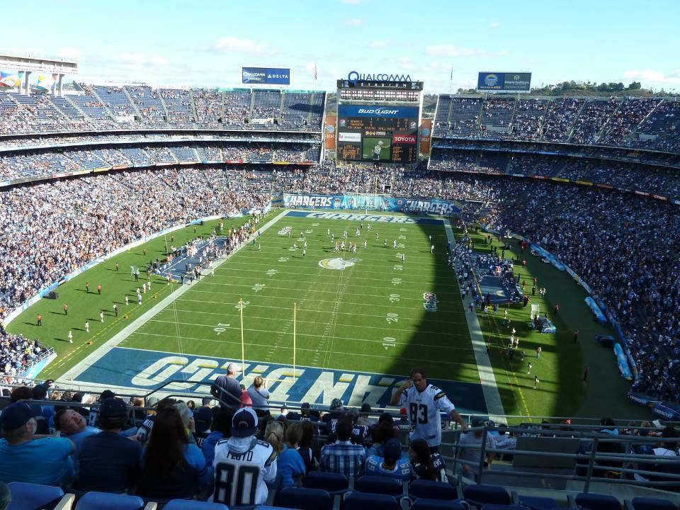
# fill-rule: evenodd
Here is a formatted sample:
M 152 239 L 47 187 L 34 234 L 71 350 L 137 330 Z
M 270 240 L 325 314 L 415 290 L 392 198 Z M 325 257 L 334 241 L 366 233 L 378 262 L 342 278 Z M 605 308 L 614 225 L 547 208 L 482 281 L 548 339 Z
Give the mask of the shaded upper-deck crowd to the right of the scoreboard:
M 680 150 L 677 98 L 439 96 L 438 138 L 492 138 Z M 494 129 L 501 128 L 501 129 Z

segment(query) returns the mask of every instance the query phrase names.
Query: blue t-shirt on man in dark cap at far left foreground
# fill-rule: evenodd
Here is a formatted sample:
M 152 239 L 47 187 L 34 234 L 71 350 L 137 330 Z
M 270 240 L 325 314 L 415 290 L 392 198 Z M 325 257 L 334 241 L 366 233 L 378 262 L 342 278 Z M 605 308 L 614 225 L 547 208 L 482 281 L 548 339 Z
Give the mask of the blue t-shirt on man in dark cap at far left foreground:
M 39 485 L 61 485 L 76 475 L 71 454 L 73 443 L 66 438 L 40 438 L 10 445 L 0 439 L 0 481 Z

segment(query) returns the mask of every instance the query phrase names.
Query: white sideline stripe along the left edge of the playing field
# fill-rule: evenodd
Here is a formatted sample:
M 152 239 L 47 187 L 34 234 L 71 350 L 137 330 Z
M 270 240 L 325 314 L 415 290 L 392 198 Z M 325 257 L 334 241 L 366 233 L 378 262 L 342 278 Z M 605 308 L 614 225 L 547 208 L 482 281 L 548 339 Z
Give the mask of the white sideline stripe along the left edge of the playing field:
M 269 220 L 266 225 L 263 225 L 261 227 L 261 232 L 264 232 L 266 229 L 271 227 L 271 225 L 276 224 L 278 220 L 280 220 L 282 217 L 288 214 L 288 210 L 283 210 L 280 212 L 276 217 L 274 217 L 272 220 Z M 244 246 L 246 246 L 247 243 L 242 244 L 239 246 L 238 249 L 235 251 L 232 251 L 229 256 L 225 257 L 224 259 L 217 261 L 215 263 L 215 268 L 218 268 L 219 266 L 222 265 L 222 263 L 225 263 L 228 259 L 230 259 L 234 254 L 237 254 L 240 249 L 242 249 Z M 111 337 L 110 340 L 106 341 L 101 347 L 97 348 L 94 352 L 90 353 L 88 356 L 86 356 L 82 361 L 74 365 L 70 370 L 68 370 L 64 375 L 62 375 L 56 382 L 63 382 L 63 383 L 70 383 L 73 380 L 76 380 L 76 378 L 83 373 L 85 370 L 90 368 L 94 363 L 96 363 L 100 358 L 106 355 L 108 351 L 111 351 L 112 348 L 120 344 L 123 340 L 128 338 L 132 333 L 137 331 L 137 329 L 140 329 L 146 322 L 148 322 L 152 317 L 155 315 L 159 314 L 164 308 L 167 306 L 171 305 L 171 303 L 176 300 L 178 297 L 183 295 L 183 293 L 186 293 L 187 290 L 191 289 L 192 287 L 190 285 L 180 285 L 180 288 L 175 290 L 173 293 L 171 293 L 169 296 L 166 296 L 164 300 L 160 301 L 157 305 L 154 305 L 150 310 L 147 310 L 144 312 L 140 317 L 137 317 L 134 321 L 130 323 L 129 326 L 126 326 L 122 330 L 118 331 L 115 335 Z

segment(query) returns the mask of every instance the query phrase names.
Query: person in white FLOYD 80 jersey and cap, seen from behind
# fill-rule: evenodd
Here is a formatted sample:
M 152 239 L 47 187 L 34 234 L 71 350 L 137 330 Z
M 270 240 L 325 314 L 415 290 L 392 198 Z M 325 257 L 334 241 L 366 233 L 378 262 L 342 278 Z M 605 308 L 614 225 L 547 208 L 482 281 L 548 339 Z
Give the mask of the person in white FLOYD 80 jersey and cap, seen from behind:
M 259 505 L 269 494 L 266 482 L 276 478 L 276 452 L 258 441 L 257 414 L 242 407 L 232 418 L 232 436 L 215 445 L 215 492 L 210 502 L 228 506 Z

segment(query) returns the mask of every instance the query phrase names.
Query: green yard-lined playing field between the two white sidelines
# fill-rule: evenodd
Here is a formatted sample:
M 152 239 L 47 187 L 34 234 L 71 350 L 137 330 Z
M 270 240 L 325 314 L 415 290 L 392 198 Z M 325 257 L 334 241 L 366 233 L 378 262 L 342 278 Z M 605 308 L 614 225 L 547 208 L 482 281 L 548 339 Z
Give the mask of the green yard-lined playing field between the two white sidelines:
M 385 374 L 426 365 L 433 377 L 476 382 L 443 226 L 368 225 L 283 217 L 120 346 L 240 359 L 243 300 L 245 358 L 292 365 L 295 304 L 297 365 Z M 335 252 L 328 232 L 340 241 L 347 232 L 356 254 Z M 436 294 L 436 312 L 424 293 Z

